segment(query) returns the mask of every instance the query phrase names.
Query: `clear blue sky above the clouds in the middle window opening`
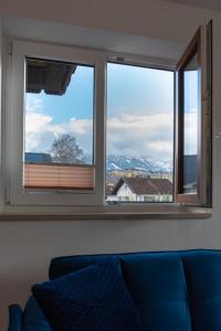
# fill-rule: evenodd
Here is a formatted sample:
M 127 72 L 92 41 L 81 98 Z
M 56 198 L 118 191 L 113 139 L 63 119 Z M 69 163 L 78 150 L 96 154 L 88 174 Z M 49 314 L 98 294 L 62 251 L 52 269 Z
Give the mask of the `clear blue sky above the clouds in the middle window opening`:
M 173 74 L 131 65 L 107 64 L 107 114 L 157 115 L 173 107 Z

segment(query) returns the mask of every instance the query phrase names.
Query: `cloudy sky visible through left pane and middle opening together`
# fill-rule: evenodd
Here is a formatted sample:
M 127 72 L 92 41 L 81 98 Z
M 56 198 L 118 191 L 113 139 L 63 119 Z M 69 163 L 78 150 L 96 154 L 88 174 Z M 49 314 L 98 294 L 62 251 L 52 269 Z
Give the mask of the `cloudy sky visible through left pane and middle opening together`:
M 71 132 L 93 148 L 94 68 L 77 66 L 64 96 L 27 94 L 25 150 L 49 152 Z M 173 73 L 107 64 L 107 153 L 172 159 Z

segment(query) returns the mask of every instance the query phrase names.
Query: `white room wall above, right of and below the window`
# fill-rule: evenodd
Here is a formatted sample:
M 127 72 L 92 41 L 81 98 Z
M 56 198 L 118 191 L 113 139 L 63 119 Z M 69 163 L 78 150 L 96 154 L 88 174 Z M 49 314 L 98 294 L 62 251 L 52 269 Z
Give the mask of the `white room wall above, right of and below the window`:
M 57 3 L 57 4 L 56 4 Z M 86 28 L 187 41 L 199 23 L 214 19 L 213 124 L 221 131 L 221 15 L 158 0 L 2 1 L 2 13 Z M 73 6 L 76 4 L 76 6 Z M 93 3 L 93 6 L 92 6 Z M 43 8 L 43 10 L 42 10 Z M 221 248 L 221 141 L 213 141 L 213 216 L 208 220 L 0 222 L 0 328 L 7 307 L 23 303 L 59 255 L 188 248 Z

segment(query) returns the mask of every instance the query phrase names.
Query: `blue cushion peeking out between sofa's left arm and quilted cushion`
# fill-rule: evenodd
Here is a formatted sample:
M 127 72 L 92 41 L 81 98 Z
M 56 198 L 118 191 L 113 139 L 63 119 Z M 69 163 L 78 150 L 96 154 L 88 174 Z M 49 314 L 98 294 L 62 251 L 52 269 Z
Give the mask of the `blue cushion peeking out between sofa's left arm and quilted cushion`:
M 52 331 L 49 321 L 33 297 L 31 297 L 27 302 L 23 312 L 22 331 Z

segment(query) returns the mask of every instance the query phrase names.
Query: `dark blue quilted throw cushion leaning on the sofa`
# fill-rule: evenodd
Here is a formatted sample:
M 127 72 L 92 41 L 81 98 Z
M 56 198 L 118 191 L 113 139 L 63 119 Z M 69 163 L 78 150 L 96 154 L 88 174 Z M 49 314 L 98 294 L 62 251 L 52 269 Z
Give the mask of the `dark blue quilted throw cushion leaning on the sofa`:
M 116 257 L 35 285 L 32 291 L 54 331 L 141 330 Z

